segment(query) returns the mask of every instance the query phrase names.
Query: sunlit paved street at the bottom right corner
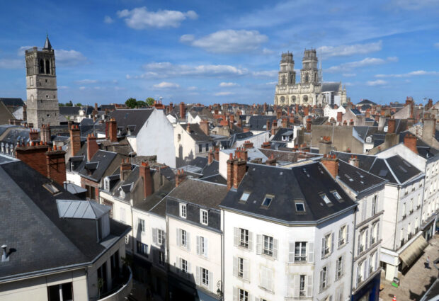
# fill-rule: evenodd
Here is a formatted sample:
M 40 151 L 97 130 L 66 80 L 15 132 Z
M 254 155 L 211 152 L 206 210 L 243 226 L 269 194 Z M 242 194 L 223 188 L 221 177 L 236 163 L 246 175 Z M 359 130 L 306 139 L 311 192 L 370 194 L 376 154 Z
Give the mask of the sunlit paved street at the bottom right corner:
M 427 256 L 430 256 L 431 269 L 425 268 Z M 406 275 L 399 273 L 399 288 L 392 286 L 391 282 L 384 279 L 384 271 L 381 273 L 381 284 L 384 289 L 380 292 L 380 300 L 392 301 L 394 295 L 397 301 L 420 300 L 422 295 L 438 277 L 438 270 L 433 266 L 433 261 L 439 257 L 439 235 L 430 240 L 424 250 L 424 254 L 411 266 Z

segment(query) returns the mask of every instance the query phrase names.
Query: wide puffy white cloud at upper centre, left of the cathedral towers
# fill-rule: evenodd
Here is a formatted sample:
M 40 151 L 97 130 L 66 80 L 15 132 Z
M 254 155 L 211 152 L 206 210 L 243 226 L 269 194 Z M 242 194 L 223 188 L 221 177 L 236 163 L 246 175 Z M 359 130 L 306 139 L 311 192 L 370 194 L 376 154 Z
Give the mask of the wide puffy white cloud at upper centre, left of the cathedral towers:
M 198 39 L 194 35 L 182 35 L 180 38 L 180 42 L 215 53 L 249 52 L 258 49 L 266 41 L 268 37 L 258 30 L 232 29 L 220 30 Z

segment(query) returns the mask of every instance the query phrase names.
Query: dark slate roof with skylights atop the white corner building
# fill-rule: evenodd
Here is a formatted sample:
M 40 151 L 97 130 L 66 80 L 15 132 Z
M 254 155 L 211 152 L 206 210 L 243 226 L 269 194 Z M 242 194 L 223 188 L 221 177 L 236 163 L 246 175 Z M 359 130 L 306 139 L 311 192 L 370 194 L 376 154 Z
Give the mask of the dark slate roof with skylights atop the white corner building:
M 239 200 L 244 191 L 250 193 L 246 202 Z M 337 191 L 343 201 L 337 200 L 333 191 Z M 329 198 L 329 205 L 324 202 L 322 194 Z M 262 206 L 266 195 L 274 195 L 268 208 Z M 303 201 L 304 212 L 296 212 L 295 200 Z M 324 166 L 316 162 L 292 169 L 247 164 L 247 172 L 239 188 L 231 189 L 220 206 L 226 210 L 237 210 L 290 224 L 318 222 L 337 212 L 353 208 L 355 203 Z

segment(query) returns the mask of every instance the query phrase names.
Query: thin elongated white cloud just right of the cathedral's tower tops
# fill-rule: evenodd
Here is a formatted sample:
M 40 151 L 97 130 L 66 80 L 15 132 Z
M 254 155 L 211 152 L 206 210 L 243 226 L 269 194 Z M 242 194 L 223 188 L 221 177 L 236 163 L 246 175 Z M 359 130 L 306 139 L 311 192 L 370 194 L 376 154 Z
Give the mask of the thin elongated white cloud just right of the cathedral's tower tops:
M 382 40 L 366 44 L 321 46 L 317 48 L 317 53 L 321 57 L 346 57 L 348 55 L 366 55 L 380 50 L 382 50 Z

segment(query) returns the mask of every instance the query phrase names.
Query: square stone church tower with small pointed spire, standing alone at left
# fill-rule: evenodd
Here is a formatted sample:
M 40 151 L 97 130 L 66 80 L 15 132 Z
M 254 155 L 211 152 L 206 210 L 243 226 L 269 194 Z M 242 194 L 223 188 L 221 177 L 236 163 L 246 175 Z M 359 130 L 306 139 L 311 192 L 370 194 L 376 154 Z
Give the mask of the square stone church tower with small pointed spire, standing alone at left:
M 59 125 L 55 51 L 46 37 L 42 50 L 25 51 L 28 123 L 40 128 L 43 124 Z

